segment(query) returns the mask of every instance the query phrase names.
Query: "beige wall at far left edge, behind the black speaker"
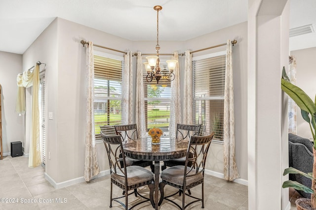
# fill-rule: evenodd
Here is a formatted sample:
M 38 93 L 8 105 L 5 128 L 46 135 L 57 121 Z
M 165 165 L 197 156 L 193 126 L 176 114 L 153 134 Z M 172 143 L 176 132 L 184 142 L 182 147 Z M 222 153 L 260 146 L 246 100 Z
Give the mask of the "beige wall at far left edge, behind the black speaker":
M 22 73 L 22 55 L 0 51 L 2 147 L 7 155 L 10 155 L 11 142 L 21 141 L 25 147 L 24 117 L 15 113 L 16 76 L 19 73 Z

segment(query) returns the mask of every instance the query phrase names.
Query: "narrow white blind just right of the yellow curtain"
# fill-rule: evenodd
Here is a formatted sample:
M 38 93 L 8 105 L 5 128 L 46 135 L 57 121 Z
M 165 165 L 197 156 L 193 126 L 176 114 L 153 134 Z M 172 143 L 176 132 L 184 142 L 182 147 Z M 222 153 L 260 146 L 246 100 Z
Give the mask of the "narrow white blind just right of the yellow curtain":
M 45 76 L 40 77 L 39 90 L 39 104 L 40 104 L 40 149 L 42 163 L 46 163 L 46 129 L 45 129 Z

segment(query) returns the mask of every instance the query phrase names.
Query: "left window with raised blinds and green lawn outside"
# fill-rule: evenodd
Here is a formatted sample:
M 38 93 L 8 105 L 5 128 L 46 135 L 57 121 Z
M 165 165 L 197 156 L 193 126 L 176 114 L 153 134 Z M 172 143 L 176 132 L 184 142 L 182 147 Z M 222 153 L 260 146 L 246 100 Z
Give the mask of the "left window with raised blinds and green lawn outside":
M 94 128 L 95 139 L 101 140 L 100 130 L 121 124 L 123 57 L 94 55 Z M 115 132 L 110 129 L 110 132 Z M 109 134 L 109 133 L 107 133 Z

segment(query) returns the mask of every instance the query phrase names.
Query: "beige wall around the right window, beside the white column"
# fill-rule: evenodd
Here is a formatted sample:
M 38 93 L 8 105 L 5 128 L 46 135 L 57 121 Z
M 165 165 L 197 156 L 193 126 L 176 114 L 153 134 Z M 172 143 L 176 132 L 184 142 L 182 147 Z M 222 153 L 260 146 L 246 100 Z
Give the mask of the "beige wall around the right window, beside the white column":
M 184 48 L 195 51 L 226 43 L 227 39 L 237 40 L 233 47 L 236 161 L 240 178 L 247 180 L 247 22 L 190 39 L 184 43 Z M 197 52 L 193 56 L 223 50 L 226 46 Z M 208 155 L 211 165 L 208 169 L 223 173 L 223 147 L 212 144 Z

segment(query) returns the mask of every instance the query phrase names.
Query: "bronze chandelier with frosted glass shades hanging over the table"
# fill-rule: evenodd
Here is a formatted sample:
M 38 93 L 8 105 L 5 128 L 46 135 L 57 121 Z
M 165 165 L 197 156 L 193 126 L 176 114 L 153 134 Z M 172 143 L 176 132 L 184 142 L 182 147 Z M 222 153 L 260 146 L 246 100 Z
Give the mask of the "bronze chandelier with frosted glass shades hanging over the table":
M 146 57 L 146 59 L 148 60 L 148 62 L 144 62 L 145 65 L 145 69 L 147 71 L 147 77 L 146 80 L 147 82 L 151 82 L 153 81 L 153 79 L 156 79 L 157 84 L 159 82 L 159 80 L 162 79 L 166 79 L 168 81 L 172 81 L 174 80 L 174 74 L 173 74 L 173 70 L 176 67 L 177 64 L 177 60 L 166 60 L 168 68 L 169 68 L 169 73 L 166 73 L 164 71 L 160 71 L 160 66 L 159 66 L 159 43 L 158 43 L 158 33 L 159 33 L 159 11 L 162 9 L 162 6 L 154 6 L 154 9 L 157 11 L 157 45 L 156 45 L 156 56 L 148 56 Z

